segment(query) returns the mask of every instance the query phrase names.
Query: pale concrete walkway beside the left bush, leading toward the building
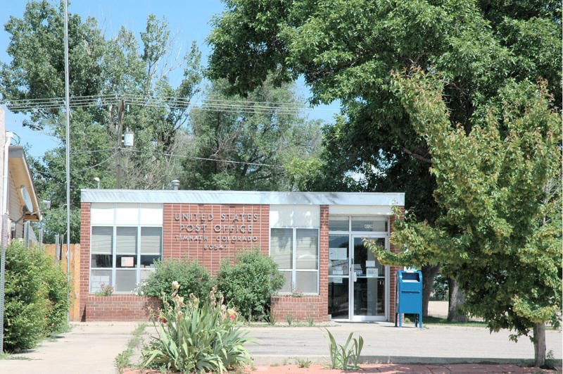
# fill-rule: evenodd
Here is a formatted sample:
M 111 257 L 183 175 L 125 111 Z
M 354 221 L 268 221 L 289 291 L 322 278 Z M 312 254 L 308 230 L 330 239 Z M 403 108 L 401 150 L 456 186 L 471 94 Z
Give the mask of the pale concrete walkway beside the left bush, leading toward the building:
M 134 322 L 72 323 L 72 330 L 37 349 L 0 360 L 0 373 L 115 373 L 113 359 L 127 348 Z

